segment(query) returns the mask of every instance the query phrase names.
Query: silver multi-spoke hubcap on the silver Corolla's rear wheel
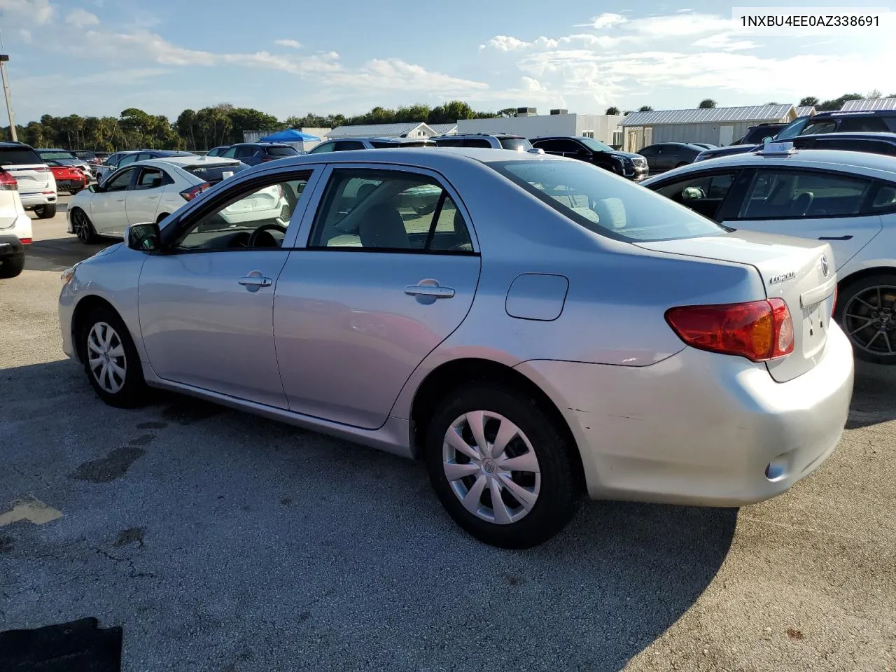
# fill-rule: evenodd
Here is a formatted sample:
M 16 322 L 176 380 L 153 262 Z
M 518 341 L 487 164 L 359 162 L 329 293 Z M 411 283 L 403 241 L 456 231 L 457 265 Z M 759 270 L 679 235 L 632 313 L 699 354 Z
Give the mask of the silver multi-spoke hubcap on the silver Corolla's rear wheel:
M 454 495 L 484 521 L 519 521 L 538 500 L 538 457 L 520 427 L 498 413 L 473 410 L 454 420 L 442 461 Z

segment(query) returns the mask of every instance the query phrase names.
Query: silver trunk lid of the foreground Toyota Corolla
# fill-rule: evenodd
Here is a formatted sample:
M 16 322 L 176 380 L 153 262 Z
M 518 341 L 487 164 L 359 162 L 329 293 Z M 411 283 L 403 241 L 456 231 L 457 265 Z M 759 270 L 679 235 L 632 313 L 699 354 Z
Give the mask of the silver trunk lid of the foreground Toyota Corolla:
M 668 254 L 744 263 L 759 271 L 767 297 L 784 299 L 794 326 L 793 352 L 766 363 L 776 381 L 783 383 L 805 374 L 823 357 L 837 287 L 833 251 L 828 243 L 737 231 L 635 245 Z

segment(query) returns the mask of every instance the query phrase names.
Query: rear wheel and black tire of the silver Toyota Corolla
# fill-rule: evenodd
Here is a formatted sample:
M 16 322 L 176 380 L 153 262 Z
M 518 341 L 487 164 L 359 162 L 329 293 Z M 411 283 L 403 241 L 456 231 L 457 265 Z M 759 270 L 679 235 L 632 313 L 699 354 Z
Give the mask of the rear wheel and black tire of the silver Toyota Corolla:
M 575 447 L 568 444 L 560 427 L 556 426 L 538 401 L 515 392 L 510 386 L 495 383 L 469 383 L 445 395 L 443 400 L 437 404 L 435 413 L 427 423 L 424 450 L 426 469 L 435 494 L 454 521 L 480 541 L 502 548 L 538 546 L 563 530 L 581 500 L 572 460 Z M 472 418 L 472 424 L 476 424 L 477 411 L 484 411 L 482 417 L 487 418 L 486 422 L 480 423 L 484 427 L 482 434 L 486 443 L 488 440 L 495 441 L 496 430 L 501 427 L 515 426 L 521 432 L 506 444 L 502 456 L 495 460 L 486 457 L 480 464 L 462 452 L 465 444 L 470 455 L 481 456 L 478 449 L 471 447 L 476 441 L 468 419 Z M 505 422 L 511 425 L 505 426 Z M 461 427 L 461 433 L 454 427 Z M 446 440 L 449 431 L 454 433 L 454 441 Z M 461 451 L 452 447 L 458 445 L 458 438 Z M 531 452 L 534 452 L 534 464 Z M 501 470 L 499 465 L 508 456 L 517 459 L 514 466 L 526 469 Z M 461 472 L 469 471 L 470 475 L 450 481 L 445 471 L 446 464 Z M 532 468 L 537 469 L 538 473 L 532 472 Z M 499 476 L 493 478 L 488 474 Z M 523 490 L 528 495 L 534 493 L 528 510 L 523 499 L 504 494 L 501 495 L 504 504 L 501 510 L 494 505 L 489 508 L 494 492 L 492 484 L 506 483 L 508 480 L 513 481 L 513 491 L 523 495 Z M 506 486 L 495 487 L 508 495 L 511 492 Z M 478 513 L 472 513 L 461 502 L 461 496 L 469 497 L 471 493 L 475 497 L 477 491 L 481 493 L 479 497 L 470 501 L 475 502 L 472 505 Z M 504 521 L 509 522 L 495 522 L 495 519 L 503 517 L 499 513 L 504 512 L 508 516 Z

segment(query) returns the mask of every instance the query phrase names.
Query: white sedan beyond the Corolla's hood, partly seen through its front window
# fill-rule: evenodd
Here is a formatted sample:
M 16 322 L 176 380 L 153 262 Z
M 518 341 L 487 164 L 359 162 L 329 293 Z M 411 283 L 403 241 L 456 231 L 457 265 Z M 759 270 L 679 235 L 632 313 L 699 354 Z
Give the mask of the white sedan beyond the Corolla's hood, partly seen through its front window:
M 172 156 L 137 161 L 118 168 L 102 185 L 90 185 L 68 205 L 68 233 L 85 244 L 97 237 L 121 237 L 131 224 L 160 222 L 211 185 L 249 168 L 236 159 Z M 229 223 L 280 217 L 289 201 L 275 187 L 262 189 L 253 201 L 238 202 L 224 211 Z

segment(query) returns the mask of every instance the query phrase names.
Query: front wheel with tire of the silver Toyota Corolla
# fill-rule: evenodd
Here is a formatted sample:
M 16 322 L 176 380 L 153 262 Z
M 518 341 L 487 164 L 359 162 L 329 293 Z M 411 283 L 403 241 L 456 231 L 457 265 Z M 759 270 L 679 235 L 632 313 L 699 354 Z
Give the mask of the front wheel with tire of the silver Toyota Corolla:
M 143 379 L 140 356 L 124 321 L 114 310 L 107 306 L 90 310 L 81 323 L 78 348 L 90 385 L 102 401 L 118 409 L 133 409 L 145 403 L 149 388 Z M 103 352 L 108 352 L 109 358 L 97 357 Z M 104 363 L 107 375 L 103 374 Z M 116 367 L 124 370 L 124 375 L 116 373 Z

